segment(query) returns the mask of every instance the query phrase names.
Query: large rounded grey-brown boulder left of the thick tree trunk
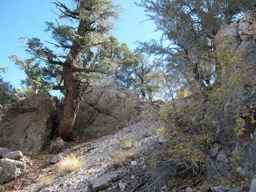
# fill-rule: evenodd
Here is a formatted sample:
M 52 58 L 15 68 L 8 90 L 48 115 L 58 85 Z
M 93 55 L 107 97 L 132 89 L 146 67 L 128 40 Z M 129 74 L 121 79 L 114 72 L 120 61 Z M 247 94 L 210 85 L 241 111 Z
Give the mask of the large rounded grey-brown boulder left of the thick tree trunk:
M 52 96 L 27 96 L 5 113 L 0 127 L 1 145 L 30 154 L 42 150 L 55 117 L 56 101 Z

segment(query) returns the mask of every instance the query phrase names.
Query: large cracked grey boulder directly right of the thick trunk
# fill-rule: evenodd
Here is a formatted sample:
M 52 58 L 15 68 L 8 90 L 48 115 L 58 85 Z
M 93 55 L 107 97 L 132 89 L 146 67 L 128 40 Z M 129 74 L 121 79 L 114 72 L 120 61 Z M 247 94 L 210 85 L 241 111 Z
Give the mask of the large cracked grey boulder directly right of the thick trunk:
M 100 137 L 136 123 L 141 103 L 139 96 L 121 88 L 96 86 L 88 89 L 81 101 L 74 134 Z

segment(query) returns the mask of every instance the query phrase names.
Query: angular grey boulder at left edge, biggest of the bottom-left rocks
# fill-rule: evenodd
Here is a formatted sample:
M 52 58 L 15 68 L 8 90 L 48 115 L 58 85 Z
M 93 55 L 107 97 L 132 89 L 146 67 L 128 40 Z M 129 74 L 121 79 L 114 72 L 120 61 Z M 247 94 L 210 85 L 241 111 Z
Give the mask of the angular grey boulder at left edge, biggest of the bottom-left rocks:
M 0 184 L 11 181 L 26 169 L 26 163 L 13 159 L 0 159 Z

